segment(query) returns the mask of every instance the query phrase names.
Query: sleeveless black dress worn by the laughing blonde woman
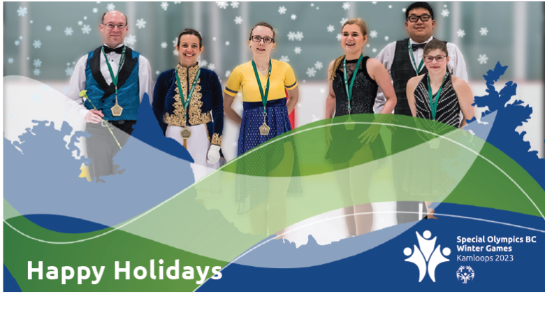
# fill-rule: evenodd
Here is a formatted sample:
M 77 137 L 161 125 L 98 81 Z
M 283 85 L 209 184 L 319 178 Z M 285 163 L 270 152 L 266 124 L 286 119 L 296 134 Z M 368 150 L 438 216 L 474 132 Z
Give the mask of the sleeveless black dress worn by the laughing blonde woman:
M 352 115 L 375 113 L 374 106 L 377 92 L 379 91 L 379 85 L 375 80 L 370 78 L 367 70 L 368 60 L 369 57 L 363 57 L 360 67 L 358 68 L 358 73 L 356 74 L 356 80 L 354 80 L 351 100 Z M 357 59 L 354 61 L 347 61 L 347 77 L 349 83 L 352 80 L 352 75 L 354 75 L 357 63 Z M 344 86 L 343 72 L 343 65 L 341 63 L 336 70 L 335 79 L 333 80 L 333 91 L 335 91 L 337 100 L 333 123 L 345 122 L 349 119 L 348 95 L 347 89 Z M 347 126 L 344 124 L 332 126 L 331 137 L 333 140 L 331 141 L 326 159 L 330 159 L 333 164 L 349 163 L 354 157 L 354 154 L 365 147 L 365 144 L 362 144 L 361 139 L 358 139 L 358 137 L 367 131 L 368 128 L 370 128 L 370 125 L 368 124 L 356 124 L 353 130 L 347 129 Z M 384 147 L 380 135 L 378 135 L 375 142 L 370 143 L 369 146 L 375 160 L 386 157 L 386 148 Z

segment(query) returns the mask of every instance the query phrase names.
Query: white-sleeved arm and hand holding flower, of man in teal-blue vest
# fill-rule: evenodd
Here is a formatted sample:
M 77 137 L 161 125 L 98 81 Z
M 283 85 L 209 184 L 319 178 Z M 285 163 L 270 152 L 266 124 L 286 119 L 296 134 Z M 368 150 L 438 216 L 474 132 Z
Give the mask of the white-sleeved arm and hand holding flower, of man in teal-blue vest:
M 82 57 L 78 61 L 78 64 L 75 65 L 70 84 L 68 84 L 68 93 L 66 96 L 71 99 L 70 112 L 77 113 L 88 123 L 99 124 L 104 117 L 102 112 L 88 110 L 87 107 L 85 107 L 83 98 L 80 97 L 80 92 L 85 90 L 85 87 L 87 86 L 85 68 L 87 68 L 87 55 Z

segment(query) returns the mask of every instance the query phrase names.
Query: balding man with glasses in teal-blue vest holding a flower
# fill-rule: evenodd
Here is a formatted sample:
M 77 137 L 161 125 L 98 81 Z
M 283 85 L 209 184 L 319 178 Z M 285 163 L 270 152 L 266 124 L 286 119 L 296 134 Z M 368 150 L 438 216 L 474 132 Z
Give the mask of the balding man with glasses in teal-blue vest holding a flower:
M 72 111 L 85 118 L 87 157 L 91 158 L 91 179 L 113 175 L 113 158 L 129 140 L 144 95 L 152 96 L 150 62 L 124 45 L 128 20 L 123 13 L 110 11 L 102 17 L 103 46 L 85 55 L 76 64 L 68 98 Z M 80 92 L 86 90 L 82 98 Z M 150 101 L 151 103 L 151 101 Z M 84 171 L 85 174 L 85 171 Z

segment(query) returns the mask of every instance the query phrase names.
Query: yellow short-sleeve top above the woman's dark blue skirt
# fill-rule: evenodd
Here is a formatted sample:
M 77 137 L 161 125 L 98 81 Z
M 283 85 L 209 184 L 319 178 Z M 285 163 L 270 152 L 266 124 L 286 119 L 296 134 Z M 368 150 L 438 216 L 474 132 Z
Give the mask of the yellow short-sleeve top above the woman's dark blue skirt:
M 270 88 L 267 101 L 286 98 L 284 88 L 293 90 L 297 87 L 297 80 L 291 66 L 283 61 L 277 61 L 275 59 L 271 59 L 271 61 L 273 61 L 273 68 L 270 73 Z M 258 74 L 259 80 L 261 80 L 261 86 L 263 87 L 263 92 L 265 92 L 268 75 L 263 76 L 259 72 Z M 229 77 L 224 92 L 231 97 L 235 97 L 240 89 L 242 89 L 242 101 L 248 103 L 261 102 L 261 93 L 259 92 L 259 86 L 257 85 L 252 61 L 235 68 Z

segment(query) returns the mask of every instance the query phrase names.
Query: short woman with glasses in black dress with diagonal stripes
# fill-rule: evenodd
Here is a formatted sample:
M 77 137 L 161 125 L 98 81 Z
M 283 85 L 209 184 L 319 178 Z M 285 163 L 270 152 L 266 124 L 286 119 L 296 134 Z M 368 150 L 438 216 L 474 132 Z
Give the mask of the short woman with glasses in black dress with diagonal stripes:
M 449 64 L 446 44 L 441 40 L 431 40 L 424 47 L 423 59 L 428 73 L 412 78 L 407 83 L 407 100 L 413 117 L 429 120 L 418 120 L 417 126 L 438 135 L 451 126 L 463 128 L 467 125 L 466 120 L 474 117 L 473 94 L 467 82 L 449 73 L 446 67 Z M 460 120 L 460 111 L 463 113 L 463 120 Z M 446 151 L 453 152 L 452 156 L 458 154 L 449 149 L 450 143 L 435 138 L 430 133 L 419 132 L 419 135 L 423 140 L 429 141 L 429 148 L 423 147 L 427 151 L 429 164 L 423 166 L 421 160 L 409 163 L 404 189 L 412 196 L 446 196 L 448 188 L 456 186 L 456 180 L 449 177 L 442 168 L 441 161 Z M 421 151 L 419 155 L 422 155 Z M 435 210 L 430 209 L 431 204 L 432 202 L 426 202 L 428 219 L 437 219 L 433 216 Z

